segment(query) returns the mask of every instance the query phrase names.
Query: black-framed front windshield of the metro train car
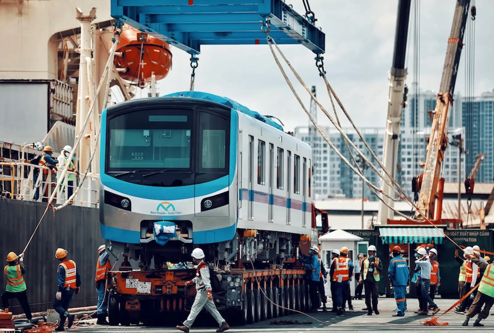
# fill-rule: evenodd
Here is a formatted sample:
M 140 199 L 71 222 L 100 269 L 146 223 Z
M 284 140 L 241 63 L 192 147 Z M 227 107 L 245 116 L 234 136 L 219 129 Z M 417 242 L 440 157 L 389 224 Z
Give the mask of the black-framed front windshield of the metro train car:
M 139 110 L 108 120 L 106 172 L 154 186 L 228 174 L 229 119 L 208 110 Z

